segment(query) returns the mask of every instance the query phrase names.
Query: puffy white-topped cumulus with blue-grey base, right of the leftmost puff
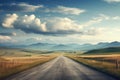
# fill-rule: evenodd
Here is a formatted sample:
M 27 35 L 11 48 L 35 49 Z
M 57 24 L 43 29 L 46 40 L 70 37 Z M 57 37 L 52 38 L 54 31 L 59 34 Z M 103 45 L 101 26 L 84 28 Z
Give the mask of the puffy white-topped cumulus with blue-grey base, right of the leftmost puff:
M 34 32 L 34 33 L 39 33 L 39 32 L 46 32 L 46 23 L 41 22 L 39 18 L 37 18 L 35 15 L 24 15 L 20 17 L 16 24 L 15 28 L 21 29 L 25 32 Z

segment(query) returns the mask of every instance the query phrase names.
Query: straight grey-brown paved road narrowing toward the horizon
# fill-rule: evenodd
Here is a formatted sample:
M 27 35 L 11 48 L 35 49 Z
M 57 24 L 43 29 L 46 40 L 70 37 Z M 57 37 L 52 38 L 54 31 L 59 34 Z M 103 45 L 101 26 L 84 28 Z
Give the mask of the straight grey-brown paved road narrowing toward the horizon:
M 21 72 L 6 80 L 116 80 L 104 73 L 60 56 L 43 65 Z

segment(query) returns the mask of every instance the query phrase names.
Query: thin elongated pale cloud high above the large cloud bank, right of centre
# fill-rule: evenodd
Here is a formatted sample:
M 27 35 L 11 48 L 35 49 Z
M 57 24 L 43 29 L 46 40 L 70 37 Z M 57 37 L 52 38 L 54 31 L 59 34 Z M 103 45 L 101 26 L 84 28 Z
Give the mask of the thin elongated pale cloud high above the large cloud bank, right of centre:
M 65 6 L 58 6 L 54 9 L 47 9 L 46 12 L 57 12 L 62 14 L 72 14 L 72 15 L 79 15 L 84 13 L 85 10 L 79 8 L 72 8 L 72 7 L 65 7 Z

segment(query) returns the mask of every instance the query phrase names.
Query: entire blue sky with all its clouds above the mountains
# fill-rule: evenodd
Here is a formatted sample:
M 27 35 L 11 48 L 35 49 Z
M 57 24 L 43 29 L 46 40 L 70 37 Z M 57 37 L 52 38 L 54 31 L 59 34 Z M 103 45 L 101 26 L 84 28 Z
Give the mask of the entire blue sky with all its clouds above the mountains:
M 120 41 L 120 0 L 0 0 L 0 44 Z

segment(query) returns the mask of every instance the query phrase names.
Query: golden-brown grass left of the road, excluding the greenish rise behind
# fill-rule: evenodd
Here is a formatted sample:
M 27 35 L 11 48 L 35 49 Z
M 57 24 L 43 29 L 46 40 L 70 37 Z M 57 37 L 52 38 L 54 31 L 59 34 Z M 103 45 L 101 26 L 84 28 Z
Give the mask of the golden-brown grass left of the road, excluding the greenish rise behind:
M 38 57 L 0 57 L 0 80 L 34 66 L 48 62 L 58 55 L 39 55 Z

